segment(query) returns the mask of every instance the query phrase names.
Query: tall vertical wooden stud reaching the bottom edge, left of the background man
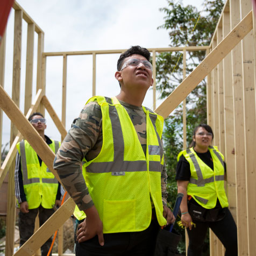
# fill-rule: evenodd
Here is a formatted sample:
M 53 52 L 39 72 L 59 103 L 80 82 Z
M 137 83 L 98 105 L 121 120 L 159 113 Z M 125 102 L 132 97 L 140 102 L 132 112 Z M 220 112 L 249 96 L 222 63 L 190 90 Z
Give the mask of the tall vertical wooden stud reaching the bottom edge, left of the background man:
M 20 98 L 20 68 L 22 57 L 22 10 L 15 11 L 14 24 L 14 44 L 13 44 L 13 73 L 12 73 L 12 99 L 17 106 L 19 106 Z M 11 123 L 11 138 L 10 145 L 15 139 L 18 130 L 16 126 Z M 11 256 L 14 247 L 14 231 L 16 219 L 16 200 L 15 200 L 15 183 L 14 183 L 15 162 L 12 163 L 9 169 L 8 176 L 8 204 L 7 204 L 7 218 L 6 218 L 6 240 L 5 240 L 5 255 Z

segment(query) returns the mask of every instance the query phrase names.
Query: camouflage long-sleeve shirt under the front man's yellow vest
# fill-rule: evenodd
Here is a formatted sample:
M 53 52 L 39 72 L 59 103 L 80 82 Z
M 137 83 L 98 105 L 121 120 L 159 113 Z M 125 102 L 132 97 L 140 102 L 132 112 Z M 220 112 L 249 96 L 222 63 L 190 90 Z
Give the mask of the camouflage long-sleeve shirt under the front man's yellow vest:
M 111 98 L 106 100 L 112 104 Z M 142 107 L 120 101 L 129 114 L 144 153 L 146 154 L 146 114 Z M 58 172 L 63 186 L 73 198 L 80 210 L 90 208 L 94 203 L 82 175 L 81 162 L 97 157 L 102 148 L 102 112 L 98 103 L 90 102 L 84 106 L 79 118 L 76 118 L 63 140 L 54 160 L 54 169 Z M 165 165 L 161 173 L 162 202 L 167 203 L 167 174 Z

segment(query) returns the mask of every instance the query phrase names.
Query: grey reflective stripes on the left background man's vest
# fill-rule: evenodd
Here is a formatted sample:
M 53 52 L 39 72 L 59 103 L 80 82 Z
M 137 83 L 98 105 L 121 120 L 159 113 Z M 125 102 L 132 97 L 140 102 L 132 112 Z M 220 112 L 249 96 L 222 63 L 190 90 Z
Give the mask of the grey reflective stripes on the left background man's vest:
M 24 140 L 20 141 L 19 148 L 20 148 L 20 159 L 22 160 L 23 184 L 27 185 L 27 184 L 31 184 L 31 183 L 39 183 L 40 178 L 31 178 L 31 179 L 29 179 L 27 177 L 27 161 L 26 161 L 26 151 L 25 151 L 25 141 Z M 58 148 L 59 148 L 59 143 L 58 143 Z M 55 149 L 56 149 L 56 144 L 55 144 Z M 46 172 L 51 172 L 48 169 L 48 167 L 46 169 Z M 52 178 L 50 178 L 50 179 L 42 178 L 42 183 L 58 183 L 58 180 L 56 179 L 56 177 L 54 177 L 54 179 L 52 179 Z

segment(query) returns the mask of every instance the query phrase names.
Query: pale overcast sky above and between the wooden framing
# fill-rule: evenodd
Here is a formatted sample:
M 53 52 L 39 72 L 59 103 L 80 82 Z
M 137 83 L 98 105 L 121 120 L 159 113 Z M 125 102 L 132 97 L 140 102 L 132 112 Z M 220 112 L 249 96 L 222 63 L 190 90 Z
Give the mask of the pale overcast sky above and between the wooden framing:
M 184 5 L 191 1 L 183 0 Z M 164 23 L 165 13 L 159 8 L 167 7 L 167 0 L 19 0 L 18 3 L 45 32 L 44 51 L 91 51 L 103 49 L 126 49 L 132 45 L 146 48 L 168 47 L 166 30 L 157 30 Z M 193 4 L 203 8 L 203 0 Z M 4 88 L 11 95 L 13 61 L 12 10 L 8 20 L 6 37 Z M 23 22 L 22 70 L 20 109 L 24 111 L 25 63 L 27 24 Z M 34 39 L 34 62 L 37 63 L 37 34 Z M 96 95 L 115 96 L 119 86 L 115 80 L 116 62 L 119 54 L 98 55 L 96 59 Z M 92 56 L 68 56 L 67 58 L 67 118 L 68 130 L 73 119 L 79 115 L 87 99 L 92 96 Z M 62 57 L 48 57 L 46 69 L 46 96 L 61 117 Z M 170 72 L 173 67 L 170 67 Z M 33 98 L 36 87 L 37 67 L 34 65 Z M 157 94 L 158 96 L 158 94 Z M 153 93 L 148 91 L 144 105 L 152 108 Z M 157 106 L 160 101 L 157 102 Z M 46 111 L 46 134 L 60 140 L 55 125 Z M 10 120 L 3 116 L 2 144 L 10 140 Z

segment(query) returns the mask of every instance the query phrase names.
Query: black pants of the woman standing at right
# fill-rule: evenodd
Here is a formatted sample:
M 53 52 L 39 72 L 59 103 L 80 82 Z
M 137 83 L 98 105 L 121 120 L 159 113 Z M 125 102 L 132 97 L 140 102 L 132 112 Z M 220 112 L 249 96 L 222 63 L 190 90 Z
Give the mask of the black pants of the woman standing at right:
M 188 256 L 200 256 L 208 227 L 224 245 L 225 256 L 237 255 L 237 226 L 229 211 L 225 208 L 225 217 L 217 222 L 196 222 L 196 227 L 187 229 L 189 237 Z

